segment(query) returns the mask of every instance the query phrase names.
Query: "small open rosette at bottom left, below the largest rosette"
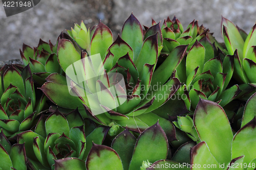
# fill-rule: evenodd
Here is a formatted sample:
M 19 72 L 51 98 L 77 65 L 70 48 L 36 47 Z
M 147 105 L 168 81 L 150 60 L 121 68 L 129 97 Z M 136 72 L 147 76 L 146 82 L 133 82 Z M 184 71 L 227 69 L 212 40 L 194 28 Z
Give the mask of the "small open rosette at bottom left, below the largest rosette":
M 54 169 L 56 162 L 65 162 L 63 158 L 86 160 L 92 141 L 102 144 L 109 128 L 96 127 L 89 119 L 85 122 L 78 110 L 65 116 L 58 110 L 49 116 L 42 114 L 34 132 L 17 135 L 18 143 L 25 142 L 29 166 L 32 169 Z

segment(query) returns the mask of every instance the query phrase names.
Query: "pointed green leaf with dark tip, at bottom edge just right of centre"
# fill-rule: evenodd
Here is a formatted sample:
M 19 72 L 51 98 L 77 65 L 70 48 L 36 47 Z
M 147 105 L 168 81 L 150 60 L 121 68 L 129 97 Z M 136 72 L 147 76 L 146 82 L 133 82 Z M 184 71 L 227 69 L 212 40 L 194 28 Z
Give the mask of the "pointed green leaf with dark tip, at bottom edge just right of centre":
M 154 148 L 154 150 L 150 148 Z M 138 137 L 129 169 L 139 169 L 143 160 L 155 162 L 166 159 L 167 151 L 166 135 L 157 122 Z

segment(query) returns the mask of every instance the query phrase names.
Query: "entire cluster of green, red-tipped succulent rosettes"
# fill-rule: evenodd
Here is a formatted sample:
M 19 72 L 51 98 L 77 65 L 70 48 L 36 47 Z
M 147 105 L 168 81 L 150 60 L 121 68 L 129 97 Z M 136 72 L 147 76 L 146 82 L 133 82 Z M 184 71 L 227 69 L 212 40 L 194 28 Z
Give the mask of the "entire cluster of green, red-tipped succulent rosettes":
M 133 14 L 116 40 L 100 21 L 24 44 L 0 70 L 0 169 L 255 169 L 256 26 L 221 25 L 225 47 Z

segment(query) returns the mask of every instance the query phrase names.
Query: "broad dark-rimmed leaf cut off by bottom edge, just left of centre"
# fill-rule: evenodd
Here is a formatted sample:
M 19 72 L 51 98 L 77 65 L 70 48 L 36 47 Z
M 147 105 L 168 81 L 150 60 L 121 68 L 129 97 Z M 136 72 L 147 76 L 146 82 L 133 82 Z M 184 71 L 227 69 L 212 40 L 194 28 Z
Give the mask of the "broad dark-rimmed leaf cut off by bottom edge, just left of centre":
M 113 163 L 115 162 L 115 163 Z M 122 170 L 122 162 L 115 150 L 93 143 L 86 161 L 87 169 Z

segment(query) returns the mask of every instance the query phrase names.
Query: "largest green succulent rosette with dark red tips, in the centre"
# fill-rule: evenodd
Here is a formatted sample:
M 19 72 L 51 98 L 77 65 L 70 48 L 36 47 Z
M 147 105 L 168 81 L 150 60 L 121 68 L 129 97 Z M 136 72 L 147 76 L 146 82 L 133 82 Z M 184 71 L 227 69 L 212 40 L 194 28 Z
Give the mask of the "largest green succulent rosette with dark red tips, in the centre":
M 68 81 L 52 74 L 40 89 L 60 107 L 84 106 L 87 115 L 100 125 L 127 126 L 142 132 L 159 119 L 159 124 L 170 134 L 173 125 L 151 111 L 168 101 L 180 87 L 172 73 L 184 57 L 187 45 L 174 48 L 156 69 L 162 48 L 161 30 L 153 26 L 143 36 L 133 14 L 124 22 L 122 35 L 114 42 L 111 30 L 101 22 L 91 34 L 87 52 L 77 51 L 68 39 L 59 39 L 57 57 Z

